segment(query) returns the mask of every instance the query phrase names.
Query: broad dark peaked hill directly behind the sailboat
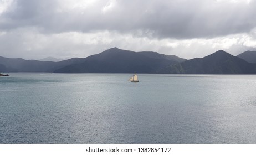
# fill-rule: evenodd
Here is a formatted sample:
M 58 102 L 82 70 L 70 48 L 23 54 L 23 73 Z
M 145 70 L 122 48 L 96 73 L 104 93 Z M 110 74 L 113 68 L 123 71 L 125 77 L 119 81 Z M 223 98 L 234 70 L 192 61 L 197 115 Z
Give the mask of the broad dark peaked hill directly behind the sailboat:
M 156 73 L 161 68 L 177 63 L 148 53 L 111 48 L 84 58 L 82 63 L 65 66 L 54 73 Z

